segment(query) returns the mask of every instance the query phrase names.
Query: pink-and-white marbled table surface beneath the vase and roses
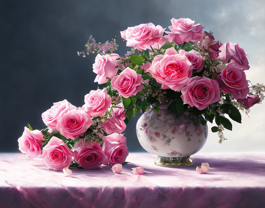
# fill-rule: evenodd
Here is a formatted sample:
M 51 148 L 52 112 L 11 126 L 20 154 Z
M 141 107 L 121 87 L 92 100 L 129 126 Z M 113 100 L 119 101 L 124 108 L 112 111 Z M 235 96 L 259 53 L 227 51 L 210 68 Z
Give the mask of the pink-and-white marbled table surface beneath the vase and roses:
M 154 164 L 155 155 L 130 153 L 122 173 L 49 170 L 41 158 L 0 154 L 0 207 L 265 207 L 265 153 L 197 153 L 193 165 Z M 206 174 L 195 172 L 207 162 Z M 143 166 L 143 175 L 131 168 Z

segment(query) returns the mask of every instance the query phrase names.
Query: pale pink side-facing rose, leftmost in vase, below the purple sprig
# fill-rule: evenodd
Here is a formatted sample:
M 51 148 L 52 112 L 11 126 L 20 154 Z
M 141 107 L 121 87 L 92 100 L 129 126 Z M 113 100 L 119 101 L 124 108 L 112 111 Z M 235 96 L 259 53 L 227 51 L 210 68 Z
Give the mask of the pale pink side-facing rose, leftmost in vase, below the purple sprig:
M 101 56 L 98 54 L 95 59 L 95 63 L 93 64 L 93 72 L 97 74 L 94 82 L 98 82 L 98 84 L 104 84 L 108 81 L 107 78 L 111 79 L 114 77 L 118 68 L 115 68 L 116 63 L 115 60 L 119 58 L 119 55 L 116 53 L 106 54 Z

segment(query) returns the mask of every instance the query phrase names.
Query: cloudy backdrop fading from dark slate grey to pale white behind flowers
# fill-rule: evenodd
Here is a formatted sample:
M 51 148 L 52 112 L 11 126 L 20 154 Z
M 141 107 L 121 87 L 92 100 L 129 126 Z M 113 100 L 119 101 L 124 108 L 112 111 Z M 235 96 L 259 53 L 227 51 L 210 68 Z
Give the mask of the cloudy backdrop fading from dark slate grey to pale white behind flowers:
M 265 84 L 264 9 L 262 0 L 0 1 L 0 151 L 18 150 L 17 138 L 28 122 L 42 129 L 41 113 L 53 102 L 67 99 L 82 106 L 84 95 L 96 89 L 96 55 L 76 55 L 91 34 L 100 42 L 117 36 L 124 53 L 119 31 L 148 22 L 165 28 L 172 17 L 188 17 L 213 31 L 216 40 L 240 44 L 251 66 L 247 79 Z M 264 107 L 251 107 L 250 118 L 242 114 L 242 124 L 232 122 L 223 144 L 209 132 L 201 151 L 264 151 Z M 135 132 L 139 116 L 125 131 L 129 151 L 144 151 Z

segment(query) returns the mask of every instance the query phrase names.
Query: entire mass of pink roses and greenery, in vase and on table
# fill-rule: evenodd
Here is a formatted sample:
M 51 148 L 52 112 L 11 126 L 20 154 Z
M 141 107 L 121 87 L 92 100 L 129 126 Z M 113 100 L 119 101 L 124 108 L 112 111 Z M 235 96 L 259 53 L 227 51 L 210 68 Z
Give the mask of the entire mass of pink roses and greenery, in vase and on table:
M 30 158 L 42 153 L 46 165 L 56 170 L 69 165 L 93 169 L 122 164 L 128 155 L 122 133 L 130 118 L 150 105 L 158 113 L 164 103 L 178 116 L 185 111 L 190 119 L 203 115 L 195 125 L 215 119 L 212 131 L 218 132 L 221 143 L 224 128 L 232 130 L 224 114 L 241 123 L 239 110 L 248 113 L 260 103 L 264 86 L 249 86 L 247 53 L 237 43 L 215 41 L 188 18 L 171 22 L 170 32 L 153 23 L 122 31 L 131 47 L 122 56 L 113 53 L 118 46 L 115 39 L 102 44 L 91 36 L 86 49 L 77 53 L 83 57 L 98 53 L 93 72 L 103 89 L 85 95 L 83 107 L 67 100 L 54 103 L 42 114 L 48 128 L 32 131 L 30 125 L 30 129 L 25 127 L 18 139 L 20 151 Z

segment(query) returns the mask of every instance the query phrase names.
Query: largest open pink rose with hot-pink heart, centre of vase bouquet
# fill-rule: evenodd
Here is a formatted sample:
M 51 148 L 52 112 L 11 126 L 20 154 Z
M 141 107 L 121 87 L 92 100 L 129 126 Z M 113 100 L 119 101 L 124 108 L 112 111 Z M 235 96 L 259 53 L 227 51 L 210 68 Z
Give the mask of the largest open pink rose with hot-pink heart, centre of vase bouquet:
M 174 48 L 166 50 L 165 55 L 156 55 L 149 73 L 162 84 L 162 89 L 180 92 L 192 76 L 193 66 L 184 55 L 177 54 Z

